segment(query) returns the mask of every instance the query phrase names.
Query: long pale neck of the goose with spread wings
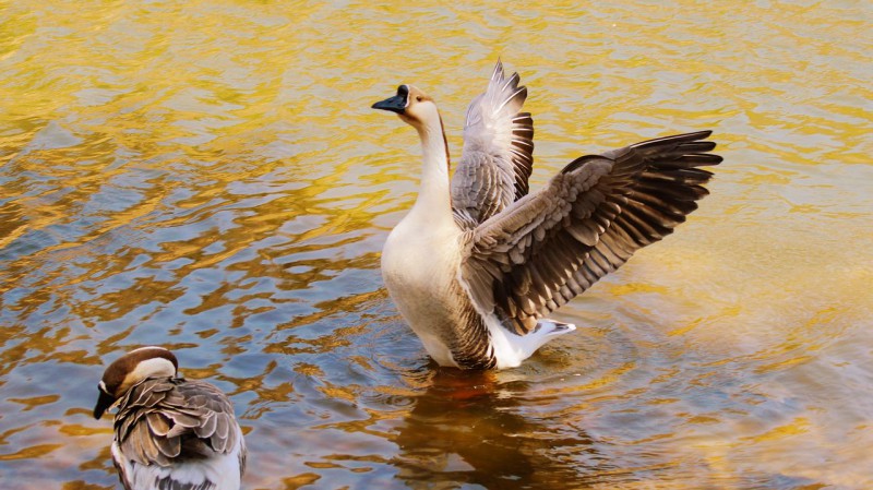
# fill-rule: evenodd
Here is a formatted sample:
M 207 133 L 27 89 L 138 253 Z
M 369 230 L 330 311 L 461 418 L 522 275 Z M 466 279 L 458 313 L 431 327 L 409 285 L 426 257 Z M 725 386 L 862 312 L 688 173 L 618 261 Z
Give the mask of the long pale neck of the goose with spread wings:
M 449 154 L 445 133 L 435 106 L 421 124 L 415 124 L 421 138 L 423 162 L 421 164 L 421 188 L 410 215 L 434 224 L 451 224 L 452 196 L 449 180 Z

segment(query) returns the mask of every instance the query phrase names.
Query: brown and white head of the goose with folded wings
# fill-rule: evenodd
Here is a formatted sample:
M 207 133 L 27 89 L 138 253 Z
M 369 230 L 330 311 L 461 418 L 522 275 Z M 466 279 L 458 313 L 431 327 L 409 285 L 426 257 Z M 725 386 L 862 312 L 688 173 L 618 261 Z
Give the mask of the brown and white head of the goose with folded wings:
M 94 407 L 94 418 L 99 419 L 107 408 L 140 381 L 175 378 L 178 369 L 176 356 L 163 347 L 141 347 L 121 356 L 106 368 L 97 384 L 100 396 Z

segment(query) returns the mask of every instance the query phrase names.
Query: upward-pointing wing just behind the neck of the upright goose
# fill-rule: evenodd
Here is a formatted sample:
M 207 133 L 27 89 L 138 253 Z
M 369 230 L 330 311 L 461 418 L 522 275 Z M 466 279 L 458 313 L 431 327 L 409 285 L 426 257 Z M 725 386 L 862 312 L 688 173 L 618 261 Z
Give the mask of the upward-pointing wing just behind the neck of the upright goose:
M 480 224 L 527 194 L 534 165 L 534 119 L 519 112 L 527 88 L 505 79 L 498 61 L 483 94 L 467 109 L 464 150 L 452 178 L 452 206 Z

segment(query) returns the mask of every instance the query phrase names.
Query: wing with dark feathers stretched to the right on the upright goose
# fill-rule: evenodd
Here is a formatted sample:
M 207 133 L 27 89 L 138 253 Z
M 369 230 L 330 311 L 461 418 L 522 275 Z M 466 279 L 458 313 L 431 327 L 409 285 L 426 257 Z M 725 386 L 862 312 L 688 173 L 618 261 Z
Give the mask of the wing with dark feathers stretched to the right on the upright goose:
M 471 232 L 462 279 L 474 301 L 523 335 L 685 220 L 708 194 L 710 131 L 575 159 L 548 186 Z

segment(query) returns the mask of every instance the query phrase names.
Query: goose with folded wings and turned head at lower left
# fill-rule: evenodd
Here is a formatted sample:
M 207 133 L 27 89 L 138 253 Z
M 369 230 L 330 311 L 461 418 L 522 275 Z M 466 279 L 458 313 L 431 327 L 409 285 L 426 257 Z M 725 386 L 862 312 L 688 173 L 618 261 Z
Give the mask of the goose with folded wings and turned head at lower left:
M 205 381 L 178 377 L 163 347 L 142 347 L 106 368 L 94 418 L 117 405 L 112 461 L 127 490 L 238 490 L 246 441 L 234 406 Z

